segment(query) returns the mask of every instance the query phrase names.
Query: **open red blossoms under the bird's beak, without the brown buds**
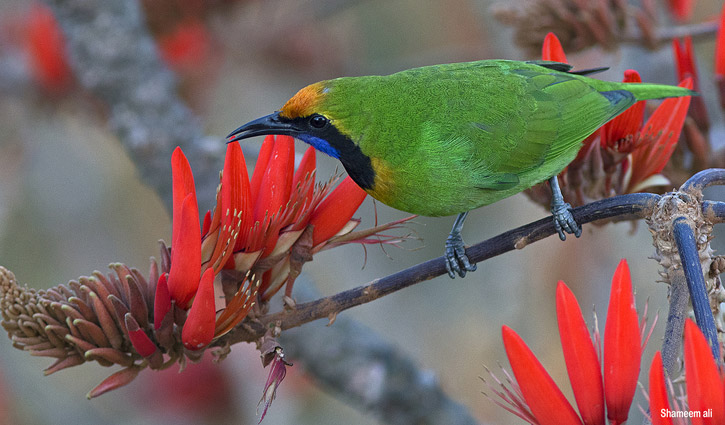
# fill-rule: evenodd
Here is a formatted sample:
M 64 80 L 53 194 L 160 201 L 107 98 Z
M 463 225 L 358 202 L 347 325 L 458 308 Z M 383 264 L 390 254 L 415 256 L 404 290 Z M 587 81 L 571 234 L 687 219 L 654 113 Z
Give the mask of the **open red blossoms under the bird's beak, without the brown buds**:
M 381 242 L 369 237 L 399 224 L 353 232 L 359 221 L 351 217 L 367 194 L 349 177 L 332 191 L 332 182 L 315 186 L 315 158 L 308 148 L 295 171 L 294 139 L 268 136 L 250 180 L 239 144 L 230 143 L 217 205 L 200 227 L 191 167 L 181 149 L 174 151 L 171 269 L 157 286 L 156 329 L 172 314 L 173 301 L 189 310 L 185 346 L 202 348 L 239 324 L 257 300 L 266 303 L 283 287 L 290 297 L 302 265 L 315 253 L 342 243 Z M 243 278 L 215 282 L 223 270 Z

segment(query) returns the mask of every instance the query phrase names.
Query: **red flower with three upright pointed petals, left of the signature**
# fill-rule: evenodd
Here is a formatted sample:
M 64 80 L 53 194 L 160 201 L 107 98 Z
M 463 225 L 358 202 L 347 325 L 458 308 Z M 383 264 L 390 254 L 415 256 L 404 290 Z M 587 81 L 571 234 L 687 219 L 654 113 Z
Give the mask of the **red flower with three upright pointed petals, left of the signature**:
M 506 355 L 517 391 L 494 390 L 507 410 L 534 424 L 621 424 L 627 420 L 640 365 L 640 329 L 627 263 L 622 260 L 612 279 L 612 295 L 604 334 L 603 371 L 581 309 L 563 282 L 557 286 L 557 320 L 569 380 L 579 408 L 563 396 L 521 338 L 503 327 Z M 595 338 L 598 341 L 598 335 Z M 605 417 L 605 402 L 606 413 Z M 508 404 L 508 406 L 506 406 Z

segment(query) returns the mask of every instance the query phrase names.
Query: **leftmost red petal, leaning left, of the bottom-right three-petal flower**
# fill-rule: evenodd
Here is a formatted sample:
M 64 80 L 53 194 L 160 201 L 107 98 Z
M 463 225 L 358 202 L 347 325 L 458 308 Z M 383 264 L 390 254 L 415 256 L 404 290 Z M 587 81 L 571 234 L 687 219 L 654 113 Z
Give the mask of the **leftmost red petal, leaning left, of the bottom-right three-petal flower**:
M 501 329 L 511 369 L 540 425 L 581 424 L 574 408 L 526 343 L 508 326 Z

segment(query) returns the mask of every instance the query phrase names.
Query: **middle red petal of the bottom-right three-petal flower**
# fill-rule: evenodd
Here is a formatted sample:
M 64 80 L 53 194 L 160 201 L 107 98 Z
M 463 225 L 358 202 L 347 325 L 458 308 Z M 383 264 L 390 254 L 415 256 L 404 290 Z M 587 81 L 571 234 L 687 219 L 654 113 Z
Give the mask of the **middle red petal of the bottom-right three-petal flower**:
M 587 425 L 604 425 L 602 368 L 579 303 L 562 281 L 556 287 L 556 318 L 579 414 Z

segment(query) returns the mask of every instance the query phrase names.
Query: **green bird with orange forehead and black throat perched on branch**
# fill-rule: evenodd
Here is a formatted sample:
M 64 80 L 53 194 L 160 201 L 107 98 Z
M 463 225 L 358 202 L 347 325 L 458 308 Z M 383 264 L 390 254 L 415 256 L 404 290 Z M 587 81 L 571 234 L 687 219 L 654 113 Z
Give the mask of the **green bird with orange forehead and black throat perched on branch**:
M 559 237 L 579 237 L 556 176 L 582 141 L 639 100 L 695 94 L 583 75 L 600 70 L 482 60 L 337 78 L 301 89 L 228 138 L 293 136 L 339 159 L 384 204 L 424 216 L 458 214 L 446 240 L 446 268 L 451 278 L 464 277 L 476 269 L 461 237 L 468 211 L 549 180 Z

